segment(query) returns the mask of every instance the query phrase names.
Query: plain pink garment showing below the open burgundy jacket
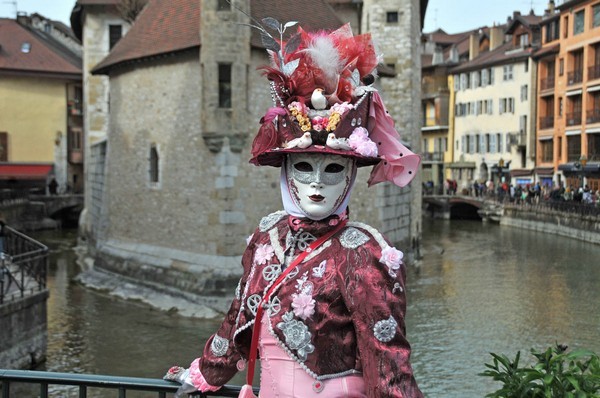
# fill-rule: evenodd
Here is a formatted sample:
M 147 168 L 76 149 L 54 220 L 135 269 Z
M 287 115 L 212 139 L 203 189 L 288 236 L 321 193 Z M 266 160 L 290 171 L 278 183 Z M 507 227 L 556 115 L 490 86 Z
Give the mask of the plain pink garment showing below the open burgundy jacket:
M 316 381 L 309 376 L 299 363 L 277 345 L 266 322 L 263 318 L 259 338 L 259 398 L 366 398 L 365 383 L 361 375 L 323 381 Z

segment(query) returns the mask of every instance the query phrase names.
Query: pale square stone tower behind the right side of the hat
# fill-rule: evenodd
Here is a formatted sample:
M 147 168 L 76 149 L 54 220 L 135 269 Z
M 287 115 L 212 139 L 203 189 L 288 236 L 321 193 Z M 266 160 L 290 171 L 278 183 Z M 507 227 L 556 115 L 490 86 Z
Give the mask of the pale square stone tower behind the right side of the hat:
M 421 63 L 418 40 L 421 32 L 418 0 L 364 0 L 361 31 L 370 32 L 383 63 L 394 78 L 380 79 L 381 91 L 402 141 L 415 153 L 421 152 Z M 410 188 L 388 185 L 379 188 L 383 230 L 394 242 L 414 248 L 421 234 L 421 177 Z M 390 205 L 391 204 L 391 205 Z M 410 241 L 410 242 L 409 242 Z M 410 246 L 404 246 L 408 249 Z

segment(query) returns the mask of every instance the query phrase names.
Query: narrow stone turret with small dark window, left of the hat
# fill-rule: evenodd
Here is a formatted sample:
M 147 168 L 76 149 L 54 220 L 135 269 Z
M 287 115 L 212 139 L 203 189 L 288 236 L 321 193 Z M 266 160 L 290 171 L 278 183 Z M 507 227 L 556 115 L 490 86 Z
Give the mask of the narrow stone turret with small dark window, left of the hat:
M 246 223 L 249 210 L 242 203 L 242 191 L 236 189 L 236 177 L 245 161 L 240 152 L 247 144 L 250 122 L 250 3 L 201 0 L 200 4 L 200 126 L 208 149 L 216 154 L 211 199 L 218 205 L 212 207 L 209 219 L 222 238 L 217 253 L 227 256 L 238 250 L 239 234 L 234 231 Z

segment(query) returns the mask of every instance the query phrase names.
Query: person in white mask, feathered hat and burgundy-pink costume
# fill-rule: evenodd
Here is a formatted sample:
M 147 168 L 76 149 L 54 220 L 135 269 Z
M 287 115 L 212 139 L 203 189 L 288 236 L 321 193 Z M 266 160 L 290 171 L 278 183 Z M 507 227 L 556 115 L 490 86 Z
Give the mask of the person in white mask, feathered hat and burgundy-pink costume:
M 281 36 L 295 25 L 265 23 Z M 182 383 L 178 397 L 215 391 L 246 367 L 251 383 L 258 351 L 261 398 L 422 397 L 405 333 L 403 254 L 349 221 L 358 167 L 373 166 L 369 185 L 405 186 L 420 163 L 372 87 L 371 37 L 349 25 L 298 28 L 265 45 L 275 106 L 250 162 L 281 168 L 285 211 L 264 217 L 249 238 L 229 312 L 201 357 L 165 379 Z

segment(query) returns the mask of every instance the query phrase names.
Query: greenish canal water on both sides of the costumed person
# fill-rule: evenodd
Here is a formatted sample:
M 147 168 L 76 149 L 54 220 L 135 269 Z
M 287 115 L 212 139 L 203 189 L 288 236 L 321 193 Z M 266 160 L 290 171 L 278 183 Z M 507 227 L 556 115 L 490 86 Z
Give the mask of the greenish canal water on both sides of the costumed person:
M 184 318 L 86 289 L 75 231 L 35 235 L 51 248 L 48 360 L 56 372 L 162 377 L 198 356 L 218 320 Z M 482 224 L 423 220 L 422 260 L 409 269 L 407 329 L 426 397 L 483 397 L 490 352 L 555 343 L 600 353 L 600 246 Z M 243 374 L 233 380 L 243 383 Z M 102 395 L 105 394 L 105 395 Z M 92 396 L 115 396 L 95 392 Z M 53 396 L 77 396 L 56 388 Z

